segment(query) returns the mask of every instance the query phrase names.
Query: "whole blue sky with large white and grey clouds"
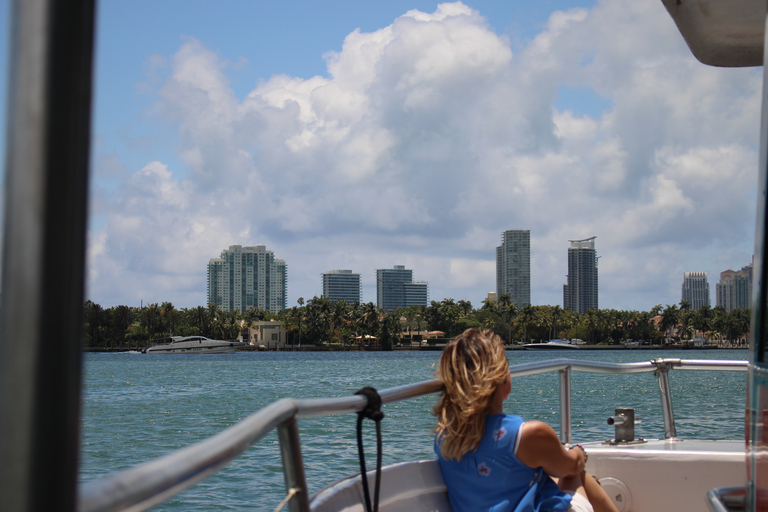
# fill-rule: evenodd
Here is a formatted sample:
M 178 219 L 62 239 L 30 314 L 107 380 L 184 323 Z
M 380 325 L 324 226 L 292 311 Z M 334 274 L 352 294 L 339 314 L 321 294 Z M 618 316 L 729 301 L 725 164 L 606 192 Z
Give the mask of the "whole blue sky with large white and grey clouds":
M 205 305 L 208 261 L 263 244 L 289 307 L 331 269 L 375 302 L 394 265 L 480 307 L 529 229 L 533 304 L 596 236 L 600 308 L 677 304 L 688 271 L 714 306 L 754 250 L 761 78 L 658 0 L 105 0 L 86 297 Z

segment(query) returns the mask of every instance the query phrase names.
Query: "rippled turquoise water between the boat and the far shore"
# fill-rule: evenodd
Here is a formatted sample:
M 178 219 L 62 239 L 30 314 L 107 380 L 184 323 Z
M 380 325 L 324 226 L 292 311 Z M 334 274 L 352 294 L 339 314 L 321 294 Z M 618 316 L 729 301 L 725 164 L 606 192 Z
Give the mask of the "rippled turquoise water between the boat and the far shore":
M 549 358 L 606 362 L 746 359 L 745 350 L 508 352 L 511 364 Z M 82 481 L 145 462 L 223 430 L 280 398 L 346 396 L 432 378 L 439 352 L 243 352 L 163 355 L 87 354 Z M 682 438 L 743 439 L 746 372 L 672 371 L 677 433 Z M 559 428 L 557 373 L 513 380 L 506 412 Z M 384 407 L 384 464 L 432 458 L 435 396 Z M 574 440 L 613 436 L 615 407 L 642 417 L 638 437 L 663 437 L 653 374 L 572 374 Z M 359 471 L 354 414 L 299 423 L 310 492 Z M 373 423 L 365 422 L 366 458 L 375 461 Z M 155 510 L 273 510 L 284 495 L 277 435 L 269 434 L 225 469 Z

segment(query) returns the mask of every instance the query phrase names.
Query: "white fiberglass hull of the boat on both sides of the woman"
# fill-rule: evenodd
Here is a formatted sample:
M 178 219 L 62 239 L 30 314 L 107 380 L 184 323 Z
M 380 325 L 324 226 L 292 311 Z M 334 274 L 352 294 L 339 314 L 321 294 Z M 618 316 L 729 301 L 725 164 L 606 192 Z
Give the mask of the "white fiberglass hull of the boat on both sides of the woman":
M 713 487 L 743 486 L 743 441 L 651 440 L 642 444 L 584 443 L 587 471 L 595 475 L 619 512 L 708 510 Z M 373 486 L 374 472 L 368 483 Z M 436 460 L 383 468 L 379 510 L 450 512 L 448 492 Z M 371 492 L 373 490 L 371 489 Z M 313 512 L 364 512 L 360 476 L 347 478 L 312 498 Z

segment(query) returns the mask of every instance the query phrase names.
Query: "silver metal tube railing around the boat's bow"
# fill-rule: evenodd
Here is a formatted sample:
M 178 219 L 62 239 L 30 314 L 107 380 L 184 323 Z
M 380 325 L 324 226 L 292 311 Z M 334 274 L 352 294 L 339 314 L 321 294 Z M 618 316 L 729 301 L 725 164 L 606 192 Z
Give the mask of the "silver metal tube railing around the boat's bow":
M 514 365 L 510 367 L 510 374 L 512 377 L 523 377 L 553 371 L 559 373 L 560 439 L 564 443 L 570 443 L 572 441 L 571 372 L 573 371 L 607 374 L 655 373 L 661 394 L 665 437 L 674 438 L 676 433 L 669 384 L 669 371 L 673 368 L 746 371 L 747 362 L 654 359 L 639 363 L 603 363 L 555 359 Z M 442 389 L 441 381 L 431 380 L 389 388 L 379 391 L 379 394 L 382 404 L 388 404 L 437 393 Z M 82 484 L 78 510 L 80 512 L 146 510 L 216 472 L 272 430 L 277 430 L 287 491 L 281 506 L 287 504 L 291 512 L 307 512 L 309 496 L 299 441 L 298 420 L 357 412 L 365 407 L 366 400 L 361 395 L 278 400 L 204 441 L 114 475 Z

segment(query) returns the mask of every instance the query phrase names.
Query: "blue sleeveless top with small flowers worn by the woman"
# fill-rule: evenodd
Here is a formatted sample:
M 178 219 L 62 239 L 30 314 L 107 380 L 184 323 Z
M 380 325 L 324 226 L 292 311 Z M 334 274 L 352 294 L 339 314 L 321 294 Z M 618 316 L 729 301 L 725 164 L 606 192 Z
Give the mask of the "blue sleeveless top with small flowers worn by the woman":
M 480 445 L 460 461 L 445 460 L 440 453 L 440 439 L 435 438 L 435 453 L 453 512 L 568 510 L 571 497 L 540 468 L 530 468 L 515 456 L 515 441 L 523 421 L 513 415 L 486 416 Z

